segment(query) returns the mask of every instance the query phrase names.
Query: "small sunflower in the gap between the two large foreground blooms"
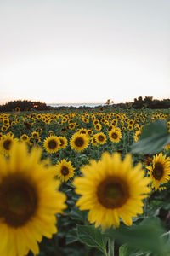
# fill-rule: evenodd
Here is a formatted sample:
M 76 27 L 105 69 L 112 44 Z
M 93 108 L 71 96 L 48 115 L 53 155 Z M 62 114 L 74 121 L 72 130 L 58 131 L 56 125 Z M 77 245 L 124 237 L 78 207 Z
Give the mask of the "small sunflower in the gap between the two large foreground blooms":
M 75 168 L 71 165 L 71 161 L 66 161 L 65 159 L 57 162 L 56 174 L 57 177 L 61 179 L 62 182 L 67 182 L 71 177 L 74 176 Z

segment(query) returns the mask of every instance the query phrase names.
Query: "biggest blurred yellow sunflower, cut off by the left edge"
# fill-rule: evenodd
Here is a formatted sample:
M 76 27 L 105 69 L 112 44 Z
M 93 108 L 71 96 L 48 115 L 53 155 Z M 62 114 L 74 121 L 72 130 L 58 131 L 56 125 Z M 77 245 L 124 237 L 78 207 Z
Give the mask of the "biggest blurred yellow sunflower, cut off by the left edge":
M 65 195 L 56 190 L 54 166 L 40 161 L 40 148 L 28 154 L 26 143 L 15 144 L 11 153 L 9 160 L 0 156 L 0 255 L 37 254 L 42 236 L 57 232 Z

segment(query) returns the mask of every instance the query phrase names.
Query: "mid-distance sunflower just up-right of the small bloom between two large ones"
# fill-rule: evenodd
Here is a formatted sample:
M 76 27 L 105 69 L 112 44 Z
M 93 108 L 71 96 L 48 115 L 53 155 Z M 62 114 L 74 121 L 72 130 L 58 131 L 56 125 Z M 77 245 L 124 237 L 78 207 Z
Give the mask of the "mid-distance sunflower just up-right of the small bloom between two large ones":
M 89 138 L 86 134 L 75 133 L 71 137 L 71 149 L 81 152 L 83 149 L 88 148 Z

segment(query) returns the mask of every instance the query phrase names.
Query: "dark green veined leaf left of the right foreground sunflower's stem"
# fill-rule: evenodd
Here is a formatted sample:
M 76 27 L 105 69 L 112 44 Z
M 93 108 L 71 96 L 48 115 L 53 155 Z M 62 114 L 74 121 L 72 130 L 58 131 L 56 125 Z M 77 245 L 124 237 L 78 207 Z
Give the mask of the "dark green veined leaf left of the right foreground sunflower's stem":
M 82 243 L 88 247 L 98 248 L 99 251 L 106 253 L 106 243 L 108 238 L 102 234 L 99 229 L 94 226 L 77 225 L 77 235 Z

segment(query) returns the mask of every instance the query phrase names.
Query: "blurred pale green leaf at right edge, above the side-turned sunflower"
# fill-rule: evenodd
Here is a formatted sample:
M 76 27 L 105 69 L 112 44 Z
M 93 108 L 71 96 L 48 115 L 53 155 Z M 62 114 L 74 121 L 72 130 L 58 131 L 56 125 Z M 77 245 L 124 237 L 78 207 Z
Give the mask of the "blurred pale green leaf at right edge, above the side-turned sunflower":
M 137 143 L 133 143 L 132 153 L 155 154 L 170 143 L 170 134 L 167 131 L 167 122 L 156 121 L 146 125 Z

